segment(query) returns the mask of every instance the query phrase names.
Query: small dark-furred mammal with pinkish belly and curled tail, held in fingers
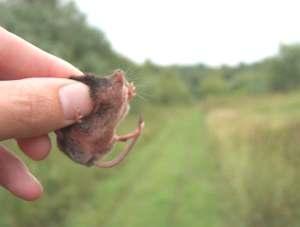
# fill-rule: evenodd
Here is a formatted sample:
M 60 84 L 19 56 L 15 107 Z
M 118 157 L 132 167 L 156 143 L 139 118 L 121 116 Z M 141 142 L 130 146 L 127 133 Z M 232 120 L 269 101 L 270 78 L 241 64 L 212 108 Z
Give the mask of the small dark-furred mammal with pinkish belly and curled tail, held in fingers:
M 135 96 L 133 83 L 129 83 L 121 70 L 112 75 L 96 77 L 85 74 L 71 77 L 90 88 L 93 110 L 86 116 L 78 112 L 77 123 L 56 131 L 57 144 L 73 161 L 86 166 L 109 168 L 120 163 L 132 149 L 144 127 L 142 119 L 138 127 L 126 135 L 116 135 L 116 127 L 129 111 L 129 101 Z M 118 156 L 111 161 L 101 159 L 120 141 L 131 140 Z

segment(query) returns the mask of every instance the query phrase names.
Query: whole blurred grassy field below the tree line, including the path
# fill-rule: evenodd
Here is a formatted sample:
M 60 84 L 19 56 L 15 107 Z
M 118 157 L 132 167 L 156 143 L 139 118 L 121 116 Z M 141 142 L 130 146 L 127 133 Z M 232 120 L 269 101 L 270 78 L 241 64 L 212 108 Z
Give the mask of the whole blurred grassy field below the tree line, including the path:
M 39 163 L 23 156 L 45 193 L 28 203 L 2 191 L 0 226 L 298 226 L 299 97 L 148 107 L 142 139 L 114 169 L 55 148 Z

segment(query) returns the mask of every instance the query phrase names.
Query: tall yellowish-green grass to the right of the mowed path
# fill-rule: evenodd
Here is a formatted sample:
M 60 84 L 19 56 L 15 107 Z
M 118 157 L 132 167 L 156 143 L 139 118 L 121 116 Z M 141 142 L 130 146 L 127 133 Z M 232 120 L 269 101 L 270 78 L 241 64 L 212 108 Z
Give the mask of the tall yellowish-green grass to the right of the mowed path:
M 287 101 L 235 103 L 208 114 L 223 226 L 300 225 L 300 121 L 278 111 Z

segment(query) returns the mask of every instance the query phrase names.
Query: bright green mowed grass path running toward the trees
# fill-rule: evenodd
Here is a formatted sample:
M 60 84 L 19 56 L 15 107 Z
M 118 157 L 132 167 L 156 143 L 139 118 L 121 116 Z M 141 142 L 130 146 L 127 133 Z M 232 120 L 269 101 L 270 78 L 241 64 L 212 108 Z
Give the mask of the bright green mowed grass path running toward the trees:
M 148 140 L 99 181 L 91 201 L 70 211 L 65 226 L 218 226 L 203 116 L 196 108 L 163 116 L 146 119 L 149 129 L 156 125 Z

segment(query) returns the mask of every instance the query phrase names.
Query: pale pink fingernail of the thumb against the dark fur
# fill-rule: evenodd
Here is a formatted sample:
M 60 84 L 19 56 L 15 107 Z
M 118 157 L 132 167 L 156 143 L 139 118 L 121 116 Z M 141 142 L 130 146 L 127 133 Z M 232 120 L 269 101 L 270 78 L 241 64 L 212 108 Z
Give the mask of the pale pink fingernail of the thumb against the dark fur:
M 76 121 L 92 110 L 89 88 L 80 82 L 65 85 L 59 89 L 60 102 L 66 120 Z

